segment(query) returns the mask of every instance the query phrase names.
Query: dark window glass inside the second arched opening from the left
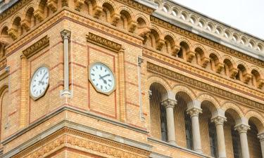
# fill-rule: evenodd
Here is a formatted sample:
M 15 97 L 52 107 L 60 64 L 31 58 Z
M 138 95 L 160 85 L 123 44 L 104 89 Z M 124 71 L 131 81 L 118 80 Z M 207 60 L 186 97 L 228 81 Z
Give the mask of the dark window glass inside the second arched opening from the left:
M 186 134 L 186 143 L 187 143 L 187 149 L 192 150 L 192 133 L 191 133 L 191 118 L 187 113 L 184 114 L 184 120 L 185 120 L 185 134 Z

